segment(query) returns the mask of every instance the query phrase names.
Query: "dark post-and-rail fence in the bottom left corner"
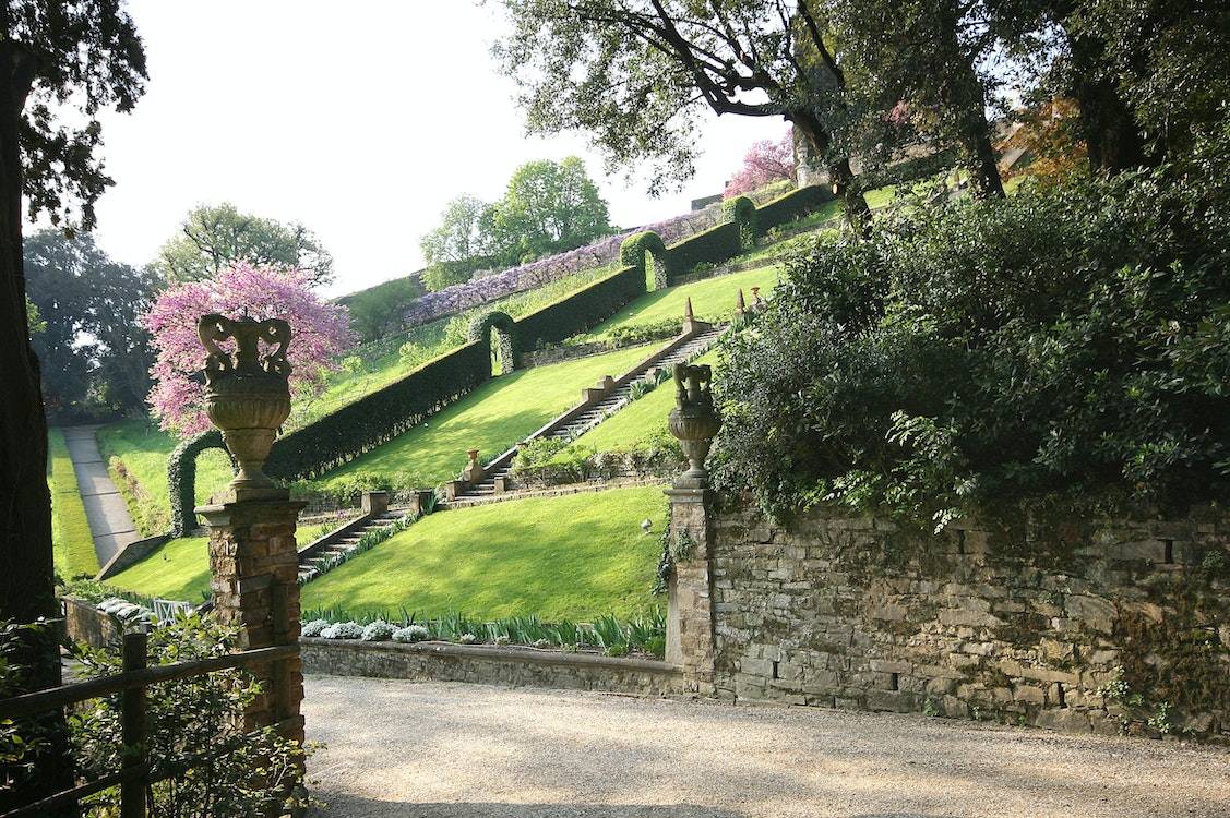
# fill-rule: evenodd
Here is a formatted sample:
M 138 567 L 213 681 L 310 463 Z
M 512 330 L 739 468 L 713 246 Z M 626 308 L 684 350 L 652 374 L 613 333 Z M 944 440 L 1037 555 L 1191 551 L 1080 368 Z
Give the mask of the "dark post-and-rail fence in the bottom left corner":
M 292 658 L 299 654 L 298 645 L 257 648 L 241 653 L 230 653 L 212 659 L 178 662 L 149 667 L 149 636 L 145 632 L 124 633 L 123 672 L 89 681 L 77 681 L 27 693 L 12 699 L 0 700 L 0 718 L 22 718 L 36 713 L 60 710 L 90 699 L 121 695 L 121 769 L 114 772 L 86 781 L 69 790 L 41 798 L 10 809 L 0 818 L 18 818 L 42 816 L 48 811 L 69 804 L 76 804 L 81 798 L 119 786 L 121 818 L 145 818 L 145 792 L 150 785 L 170 779 L 182 770 L 208 764 L 216 754 L 207 753 L 177 763 L 173 766 L 157 769 L 145 755 L 145 689 L 162 681 L 177 681 L 192 677 L 247 668 Z M 276 729 L 282 725 L 274 725 Z

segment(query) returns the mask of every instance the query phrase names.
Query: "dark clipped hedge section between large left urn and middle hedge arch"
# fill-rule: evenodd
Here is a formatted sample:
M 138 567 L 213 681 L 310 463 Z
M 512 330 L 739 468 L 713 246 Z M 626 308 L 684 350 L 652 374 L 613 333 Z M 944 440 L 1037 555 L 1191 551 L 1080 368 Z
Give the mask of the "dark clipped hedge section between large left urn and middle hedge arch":
M 488 344 L 470 342 L 279 438 L 264 470 L 283 480 L 321 475 L 422 423 L 488 378 Z

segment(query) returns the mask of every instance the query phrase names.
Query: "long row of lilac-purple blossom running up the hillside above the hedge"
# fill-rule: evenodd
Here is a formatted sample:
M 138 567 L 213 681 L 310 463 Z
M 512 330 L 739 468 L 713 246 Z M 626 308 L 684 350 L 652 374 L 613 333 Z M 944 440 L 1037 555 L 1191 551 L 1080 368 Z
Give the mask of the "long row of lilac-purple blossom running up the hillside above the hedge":
M 707 230 L 722 218 L 717 205 L 685 213 L 684 215 L 608 236 L 592 245 L 547 256 L 538 261 L 481 276 L 469 282 L 453 284 L 434 293 L 421 295 L 405 314 L 406 327 L 415 327 L 446 315 L 455 315 L 482 304 L 524 293 L 583 269 L 609 264 L 619 258 L 620 245 L 633 232 L 652 230 L 664 242 L 673 244 L 692 234 Z

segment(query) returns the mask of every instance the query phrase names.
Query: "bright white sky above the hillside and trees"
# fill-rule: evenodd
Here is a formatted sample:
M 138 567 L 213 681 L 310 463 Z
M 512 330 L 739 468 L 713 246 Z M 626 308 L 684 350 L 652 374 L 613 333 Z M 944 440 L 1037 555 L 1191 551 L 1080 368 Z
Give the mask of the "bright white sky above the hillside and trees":
M 632 226 L 717 193 L 777 118 L 711 117 L 695 180 L 652 199 L 605 177 L 582 134 L 526 138 L 491 44 L 501 7 L 475 0 L 134 0 L 150 80 L 137 109 L 105 119 L 116 180 L 98 244 L 144 264 L 198 203 L 301 221 L 333 253 L 331 295 L 422 266 L 419 236 L 445 202 L 494 201 L 531 159 L 584 157 Z

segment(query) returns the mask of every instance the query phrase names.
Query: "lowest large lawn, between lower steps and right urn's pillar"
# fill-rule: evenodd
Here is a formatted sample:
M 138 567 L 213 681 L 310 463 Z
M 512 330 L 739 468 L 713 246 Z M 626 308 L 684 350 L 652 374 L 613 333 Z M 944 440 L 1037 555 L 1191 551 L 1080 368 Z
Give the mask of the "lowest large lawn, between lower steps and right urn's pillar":
M 304 586 L 303 608 L 629 617 L 654 603 L 665 510 L 662 488 L 648 486 L 440 512 Z

